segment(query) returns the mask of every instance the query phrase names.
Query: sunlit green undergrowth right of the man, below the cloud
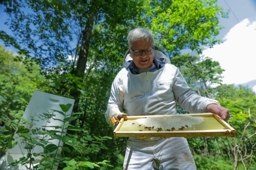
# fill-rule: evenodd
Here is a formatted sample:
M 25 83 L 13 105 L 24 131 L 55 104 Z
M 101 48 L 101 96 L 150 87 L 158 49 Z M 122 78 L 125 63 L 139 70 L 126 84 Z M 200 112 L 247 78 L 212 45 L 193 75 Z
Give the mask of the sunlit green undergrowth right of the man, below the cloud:
M 212 90 L 216 100 L 231 112 L 228 123 L 237 130 L 236 138 L 188 139 L 198 169 L 244 169 L 254 167 L 256 95 L 247 87 L 221 84 Z M 218 158 L 212 158 L 214 155 Z M 243 158 L 243 162 L 242 159 Z M 215 161 L 212 161 L 215 160 Z M 223 166 L 222 166 L 223 165 Z M 230 167 L 228 165 L 231 165 Z M 210 167 L 210 168 L 209 168 Z

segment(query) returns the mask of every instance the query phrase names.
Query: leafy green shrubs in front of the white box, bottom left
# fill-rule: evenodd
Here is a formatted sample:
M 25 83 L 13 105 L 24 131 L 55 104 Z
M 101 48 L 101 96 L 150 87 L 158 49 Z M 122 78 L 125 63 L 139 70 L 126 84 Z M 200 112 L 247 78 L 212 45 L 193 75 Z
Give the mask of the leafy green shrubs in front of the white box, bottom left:
M 0 142 L 2 143 L 4 140 L 8 139 L 9 142 L 7 148 L 11 149 L 17 145 L 17 140 L 21 140 L 20 143 L 25 144 L 23 148 L 28 151 L 26 157 L 14 160 L 10 165 L 15 166 L 22 164 L 28 169 L 53 169 L 55 166 L 63 163 L 66 164 L 64 169 L 87 169 L 101 166 L 113 167 L 107 163 L 110 161 L 104 160 L 102 162 L 91 162 L 90 158 L 87 157 L 89 153 L 99 152 L 101 149 L 108 149 L 102 142 L 112 138 L 108 136 L 93 136 L 94 138 L 92 138 L 90 135 L 78 137 L 77 135 L 66 133 L 64 130 L 65 127 L 72 127 L 72 125 L 66 124 L 66 122 L 71 120 L 70 118 L 74 118 L 66 117 L 68 116 L 66 115 L 66 112 L 70 109 L 71 104 L 60 104 L 60 107 L 62 111 L 54 110 L 51 113 L 43 113 L 42 115 L 39 115 L 37 119 L 31 117 L 30 121 L 25 120 L 24 118 L 11 120 L 7 116 L 2 116 L 0 118 L 0 122 L 4 122 L 7 128 L 16 129 L 15 135 L 5 134 L 8 130 L 4 129 L 4 133 L 0 134 Z M 54 118 L 56 116 L 54 113 L 56 112 L 57 114 L 62 114 L 64 119 L 60 120 Z M 78 114 L 80 113 L 71 115 Z M 63 125 L 48 126 L 47 124 L 50 123 L 50 119 L 58 120 L 62 122 Z M 47 122 L 46 125 L 41 128 L 34 127 L 39 120 L 45 120 L 45 122 Z M 55 130 L 46 130 L 47 127 L 54 128 Z M 77 129 L 71 130 L 76 131 Z M 82 129 L 79 131 L 81 130 Z M 39 136 L 42 136 L 42 138 L 39 138 Z M 58 145 L 51 143 L 52 139 L 59 140 Z M 60 146 L 60 142 L 63 142 L 66 146 L 69 146 L 69 148 Z M 38 148 L 40 147 L 43 148 L 43 152 L 37 153 Z M 70 157 L 65 156 L 64 152 Z M 40 161 L 40 164 L 34 166 L 33 161 L 36 160 Z

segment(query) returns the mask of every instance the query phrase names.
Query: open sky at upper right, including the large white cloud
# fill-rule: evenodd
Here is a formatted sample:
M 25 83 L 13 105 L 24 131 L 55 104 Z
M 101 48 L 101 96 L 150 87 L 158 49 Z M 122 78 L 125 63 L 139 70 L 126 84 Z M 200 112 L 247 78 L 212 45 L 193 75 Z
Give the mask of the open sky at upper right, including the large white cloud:
M 223 43 L 204 50 L 203 55 L 218 61 L 226 70 L 222 79 L 225 84 L 241 84 L 255 80 L 256 0 L 218 2 L 223 9 L 230 9 L 229 18 L 220 19 L 220 24 L 225 29 L 220 31 L 217 38 Z

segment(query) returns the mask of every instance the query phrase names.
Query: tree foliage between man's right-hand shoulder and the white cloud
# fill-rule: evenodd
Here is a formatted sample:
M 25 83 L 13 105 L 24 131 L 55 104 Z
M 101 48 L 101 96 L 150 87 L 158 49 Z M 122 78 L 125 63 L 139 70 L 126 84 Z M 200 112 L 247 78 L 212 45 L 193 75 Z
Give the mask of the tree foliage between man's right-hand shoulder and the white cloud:
M 222 82 L 222 72 L 225 71 L 219 62 L 209 57 L 191 56 L 190 54 L 177 55 L 172 58 L 172 64 L 180 69 L 188 85 L 201 96 L 212 97 L 212 84 Z

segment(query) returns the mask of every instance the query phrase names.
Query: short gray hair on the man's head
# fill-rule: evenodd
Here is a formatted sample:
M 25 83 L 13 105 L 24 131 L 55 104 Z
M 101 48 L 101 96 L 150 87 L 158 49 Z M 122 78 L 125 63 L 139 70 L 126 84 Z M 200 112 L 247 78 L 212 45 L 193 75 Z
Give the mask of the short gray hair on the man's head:
M 152 41 L 153 45 L 155 45 L 154 36 L 150 29 L 147 28 L 135 28 L 128 33 L 127 36 L 129 48 L 131 48 L 132 44 L 137 40 L 142 41 Z

